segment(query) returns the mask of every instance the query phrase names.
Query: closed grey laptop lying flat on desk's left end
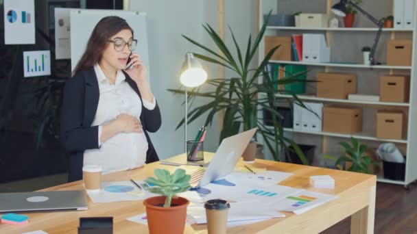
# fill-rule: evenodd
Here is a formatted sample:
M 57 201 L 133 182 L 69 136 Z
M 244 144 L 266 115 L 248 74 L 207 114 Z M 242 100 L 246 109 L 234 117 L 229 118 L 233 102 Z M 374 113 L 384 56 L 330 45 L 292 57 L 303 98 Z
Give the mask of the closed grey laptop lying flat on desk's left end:
M 0 194 L 0 212 L 86 210 L 84 190 Z

